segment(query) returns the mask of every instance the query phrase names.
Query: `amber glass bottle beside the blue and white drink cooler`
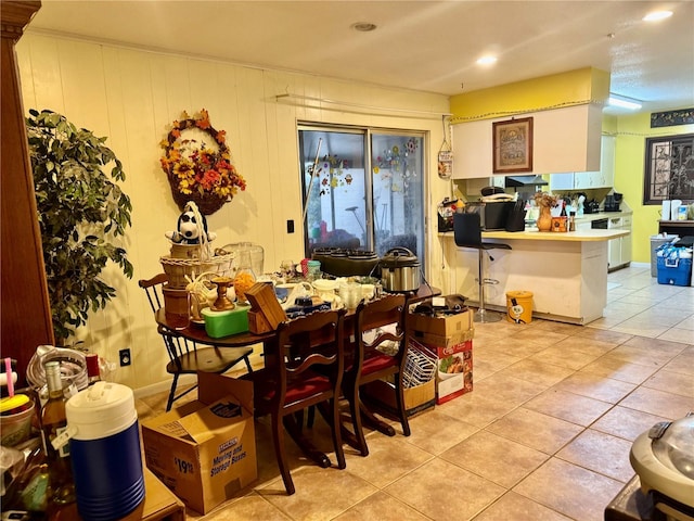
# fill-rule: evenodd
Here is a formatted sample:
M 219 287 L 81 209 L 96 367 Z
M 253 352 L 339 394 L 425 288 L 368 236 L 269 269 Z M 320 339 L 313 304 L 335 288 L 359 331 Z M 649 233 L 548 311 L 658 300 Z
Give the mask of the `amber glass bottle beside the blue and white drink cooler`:
M 51 444 L 67 428 L 61 364 L 56 360 L 47 361 L 44 368 L 49 397 L 41 409 L 41 435 L 48 462 L 48 500 L 49 506 L 51 503 L 67 505 L 76 500 L 69 445 L 65 444 L 56 450 Z

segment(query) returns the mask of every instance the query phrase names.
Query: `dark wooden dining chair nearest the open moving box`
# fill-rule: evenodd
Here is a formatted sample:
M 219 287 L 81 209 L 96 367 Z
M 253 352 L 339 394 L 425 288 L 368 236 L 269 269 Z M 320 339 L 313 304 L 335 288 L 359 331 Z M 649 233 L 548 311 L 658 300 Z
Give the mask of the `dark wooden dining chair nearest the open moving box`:
M 287 463 L 285 430 L 321 467 L 332 465 L 301 434 L 297 418 L 309 407 L 326 403 L 337 467 L 346 467 L 338 404 L 344 372 L 344 309 L 314 312 L 281 322 L 274 341 L 269 341 L 271 353 L 266 347 L 265 367 L 242 377 L 254 383 L 256 417 L 271 416 L 272 442 L 288 495 L 294 494 L 295 486 Z

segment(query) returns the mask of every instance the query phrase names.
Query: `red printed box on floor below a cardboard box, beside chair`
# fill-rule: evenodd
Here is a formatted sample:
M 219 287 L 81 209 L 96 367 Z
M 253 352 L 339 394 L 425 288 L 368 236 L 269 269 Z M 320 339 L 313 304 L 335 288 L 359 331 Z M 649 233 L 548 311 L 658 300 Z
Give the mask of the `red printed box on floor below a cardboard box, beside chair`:
M 436 404 L 441 405 L 473 390 L 473 341 L 449 346 L 427 345 L 438 358 Z

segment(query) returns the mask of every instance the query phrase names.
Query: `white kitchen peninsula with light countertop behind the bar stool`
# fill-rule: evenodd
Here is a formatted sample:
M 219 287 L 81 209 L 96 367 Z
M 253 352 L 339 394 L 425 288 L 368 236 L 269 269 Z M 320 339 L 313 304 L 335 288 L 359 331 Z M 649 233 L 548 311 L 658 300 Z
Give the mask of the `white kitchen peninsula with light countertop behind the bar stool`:
M 490 250 L 485 255 L 489 284 L 486 304 L 506 313 L 506 293 L 530 291 L 532 316 L 570 323 L 588 323 L 603 316 L 607 304 L 607 243 L 628 230 L 588 229 L 570 232 L 486 231 L 483 240 L 509 244 L 512 250 Z M 449 292 L 478 305 L 477 250 L 459 247 L 453 232 L 439 233 L 449 269 Z

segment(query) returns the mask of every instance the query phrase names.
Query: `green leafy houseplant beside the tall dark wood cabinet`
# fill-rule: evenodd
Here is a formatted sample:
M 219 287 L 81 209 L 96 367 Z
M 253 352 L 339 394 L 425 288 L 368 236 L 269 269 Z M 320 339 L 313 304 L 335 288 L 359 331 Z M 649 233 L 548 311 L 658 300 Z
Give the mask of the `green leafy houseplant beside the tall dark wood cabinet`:
M 64 345 L 116 295 L 101 278 L 106 263 L 132 277 L 126 251 L 114 244 L 131 225 L 132 205 L 115 182 L 125 174 L 106 138 L 47 110 L 30 110 L 26 124 L 53 331 Z

